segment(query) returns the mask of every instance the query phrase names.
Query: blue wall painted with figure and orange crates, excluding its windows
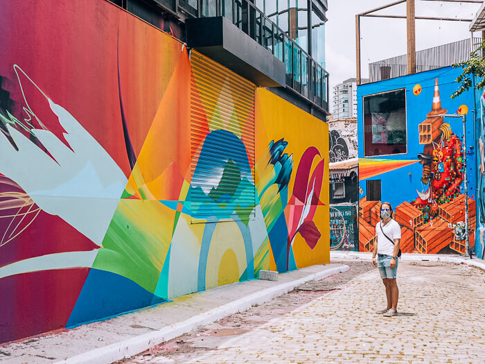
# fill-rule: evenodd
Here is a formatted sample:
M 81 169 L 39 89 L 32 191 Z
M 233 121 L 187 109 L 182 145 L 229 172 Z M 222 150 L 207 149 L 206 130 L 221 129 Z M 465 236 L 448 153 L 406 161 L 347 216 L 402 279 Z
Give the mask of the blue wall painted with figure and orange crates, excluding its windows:
M 464 222 L 465 215 L 464 167 L 463 155 L 460 154 L 463 123 L 461 119 L 443 120 L 436 116 L 443 112 L 448 114 L 468 112 L 466 158 L 470 248 L 474 249 L 475 197 L 477 196 L 473 149 L 474 103 L 471 91 L 455 100 L 450 98 L 459 86 L 455 82 L 459 73 L 461 71 L 458 69 L 447 67 L 358 87 L 360 250 L 371 250 L 375 234 L 374 227 L 379 220 L 379 204 L 367 201 L 367 181 L 380 180 L 381 200 L 391 202 L 396 211 L 396 220 L 402 227 L 403 252 L 464 253 L 465 242 L 455 234 L 454 229 L 456 224 Z M 436 83 L 438 97 L 436 97 Z M 405 88 L 406 96 L 407 153 L 364 157 L 363 96 L 401 88 Z M 434 123 L 434 134 L 428 144 L 420 144 L 419 124 L 422 122 Z M 430 166 L 419 163 L 418 153 L 432 156 Z M 422 178 L 429 175 L 427 171 L 432 172 L 432 177 L 426 184 L 423 183 Z M 432 187 L 429 188 L 430 186 Z

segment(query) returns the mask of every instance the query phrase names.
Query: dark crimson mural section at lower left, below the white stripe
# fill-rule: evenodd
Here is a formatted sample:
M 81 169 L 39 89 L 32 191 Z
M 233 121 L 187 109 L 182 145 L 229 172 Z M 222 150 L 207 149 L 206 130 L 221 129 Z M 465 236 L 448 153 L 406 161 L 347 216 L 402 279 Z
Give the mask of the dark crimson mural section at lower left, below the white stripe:
M 0 279 L 0 342 L 65 326 L 89 268 L 44 270 Z M 62 292 L 62 294 L 57 294 Z

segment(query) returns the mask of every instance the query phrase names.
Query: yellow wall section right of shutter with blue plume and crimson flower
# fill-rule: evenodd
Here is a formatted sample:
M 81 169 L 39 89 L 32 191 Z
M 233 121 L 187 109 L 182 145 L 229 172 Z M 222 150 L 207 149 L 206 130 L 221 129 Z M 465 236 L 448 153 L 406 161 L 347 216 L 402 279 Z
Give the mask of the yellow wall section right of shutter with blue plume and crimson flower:
M 256 155 L 271 268 L 284 272 L 330 261 L 328 125 L 257 89 Z

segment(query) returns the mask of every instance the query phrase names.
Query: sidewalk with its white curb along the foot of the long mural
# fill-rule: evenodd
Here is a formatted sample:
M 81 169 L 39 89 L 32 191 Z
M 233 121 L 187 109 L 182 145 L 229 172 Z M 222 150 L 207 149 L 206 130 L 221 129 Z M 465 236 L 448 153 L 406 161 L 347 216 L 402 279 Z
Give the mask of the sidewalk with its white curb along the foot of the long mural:
M 295 286 L 349 270 L 344 264 L 311 266 L 279 275 L 279 281 L 252 280 L 179 297 L 172 302 L 0 345 L 0 362 L 112 363 L 204 324 L 245 311 Z

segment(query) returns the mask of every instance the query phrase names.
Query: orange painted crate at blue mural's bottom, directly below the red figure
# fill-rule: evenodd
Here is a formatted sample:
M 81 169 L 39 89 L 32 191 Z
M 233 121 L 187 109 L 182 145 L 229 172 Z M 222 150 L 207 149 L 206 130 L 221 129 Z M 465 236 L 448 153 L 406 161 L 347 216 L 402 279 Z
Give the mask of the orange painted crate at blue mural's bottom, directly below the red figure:
M 423 254 L 436 254 L 450 245 L 452 228 L 443 218 L 434 218 L 416 228 L 416 250 Z

